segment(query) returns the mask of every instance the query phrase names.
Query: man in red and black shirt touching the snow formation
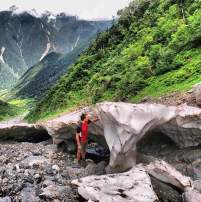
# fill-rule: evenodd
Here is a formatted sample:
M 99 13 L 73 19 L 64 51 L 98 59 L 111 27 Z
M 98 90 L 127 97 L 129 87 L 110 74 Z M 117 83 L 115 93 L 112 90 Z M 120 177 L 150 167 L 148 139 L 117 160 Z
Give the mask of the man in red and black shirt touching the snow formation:
M 89 120 L 89 114 L 83 113 L 80 116 L 81 123 L 77 127 L 76 132 L 76 142 L 77 142 L 77 161 L 78 164 L 82 162 L 85 164 L 85 157 L 86 157 L 86 149 L 88 144 L 88 125 L 91 122 L 95 122 L 98 120 L 97 116 L 94 116 L 93 121 Z

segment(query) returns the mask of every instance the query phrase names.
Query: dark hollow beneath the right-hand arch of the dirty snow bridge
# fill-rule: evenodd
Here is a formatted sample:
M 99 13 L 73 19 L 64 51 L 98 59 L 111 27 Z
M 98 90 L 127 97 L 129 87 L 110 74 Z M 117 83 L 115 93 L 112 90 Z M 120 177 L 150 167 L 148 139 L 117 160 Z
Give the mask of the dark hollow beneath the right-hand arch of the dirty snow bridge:
M 156 159 L 170 163 L 193 180 L 201 180 L 201 145 L 181 149 L 167 135 L 152 130 L 137 143 L 136 162 L 148 164 Z

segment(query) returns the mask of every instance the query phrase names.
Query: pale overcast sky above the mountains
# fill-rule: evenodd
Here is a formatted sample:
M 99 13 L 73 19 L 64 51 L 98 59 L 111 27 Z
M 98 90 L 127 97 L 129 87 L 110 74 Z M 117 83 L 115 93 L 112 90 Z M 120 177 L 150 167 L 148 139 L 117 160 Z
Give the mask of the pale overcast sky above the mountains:
M 20 10 L 35 8 L 41 13 L 49 10 L 53 13 L 65 12 L 84 19 L 112 18 L 117 11 L 132 0 L 0 0 L 0 10 L 16 5 Z

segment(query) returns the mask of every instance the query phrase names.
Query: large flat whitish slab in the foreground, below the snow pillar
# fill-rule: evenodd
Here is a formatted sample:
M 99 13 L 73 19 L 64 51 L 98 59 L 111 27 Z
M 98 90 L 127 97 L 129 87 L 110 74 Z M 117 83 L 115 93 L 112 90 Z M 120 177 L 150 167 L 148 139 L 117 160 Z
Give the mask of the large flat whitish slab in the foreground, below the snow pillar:
M 73 180 L 79 194 L 87 200 L 100 202 L 156 202 L 149 176 L 137 166 L 129 172 L 102 176 L 89 176 Z

